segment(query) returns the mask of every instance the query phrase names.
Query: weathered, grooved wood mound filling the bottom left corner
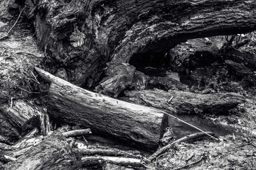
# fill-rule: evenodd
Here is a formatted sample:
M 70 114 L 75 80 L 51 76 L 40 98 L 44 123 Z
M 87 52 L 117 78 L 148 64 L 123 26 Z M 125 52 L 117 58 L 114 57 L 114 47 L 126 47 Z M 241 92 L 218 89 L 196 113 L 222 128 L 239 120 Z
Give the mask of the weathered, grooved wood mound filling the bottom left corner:
M 81 160 L 62 135 L 50 135 L 26 150 L 16 161 L 4 164 L 4 170 L 80 168 Z

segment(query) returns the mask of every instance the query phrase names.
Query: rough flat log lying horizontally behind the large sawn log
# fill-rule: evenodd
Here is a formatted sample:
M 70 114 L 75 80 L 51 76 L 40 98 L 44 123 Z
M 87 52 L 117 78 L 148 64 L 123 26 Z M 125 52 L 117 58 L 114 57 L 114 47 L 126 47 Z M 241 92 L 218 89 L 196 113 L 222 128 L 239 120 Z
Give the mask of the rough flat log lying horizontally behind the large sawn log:
M 177 113 L 225 113 L 231 108 L 245 102 L 245 97 L 235 93 L 195 94 L 187 91 L 127 91 L 126 101 L 142 103 L 146 106 L 161 108 Z

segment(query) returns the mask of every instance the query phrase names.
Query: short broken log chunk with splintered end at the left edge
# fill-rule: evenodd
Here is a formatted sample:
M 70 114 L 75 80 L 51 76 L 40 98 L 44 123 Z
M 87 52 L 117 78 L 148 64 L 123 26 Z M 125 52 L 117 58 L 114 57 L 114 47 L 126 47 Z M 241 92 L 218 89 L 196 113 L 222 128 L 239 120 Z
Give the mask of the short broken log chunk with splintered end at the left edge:
M 12 144 L 21 137 L 22 132 L 34 127 L 40 128 L 41 109 L 22 100 L 11 100 L 0 108 L 0 142 Z

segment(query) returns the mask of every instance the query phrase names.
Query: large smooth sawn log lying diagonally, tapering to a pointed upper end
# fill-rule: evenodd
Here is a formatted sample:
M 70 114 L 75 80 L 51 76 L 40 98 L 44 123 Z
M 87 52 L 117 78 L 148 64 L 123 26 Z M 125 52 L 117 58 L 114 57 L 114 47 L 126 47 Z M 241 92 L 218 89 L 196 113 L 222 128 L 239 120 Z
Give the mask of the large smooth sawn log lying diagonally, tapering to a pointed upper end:
M 51 81 L 48 113 L 65 123 L 90 128 L 132 145 L 155 149 L 168 124 L 166 116 L 154 108 L 141 106 L 87 91 L 36 67 Z

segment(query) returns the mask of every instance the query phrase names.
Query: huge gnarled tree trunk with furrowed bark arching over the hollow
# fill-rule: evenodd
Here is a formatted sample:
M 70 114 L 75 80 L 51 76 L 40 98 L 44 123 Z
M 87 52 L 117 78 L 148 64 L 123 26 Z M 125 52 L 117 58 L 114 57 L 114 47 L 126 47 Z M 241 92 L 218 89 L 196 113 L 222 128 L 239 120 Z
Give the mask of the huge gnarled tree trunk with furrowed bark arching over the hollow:
M 26 0 L 25 13 L 50 55 L 48 70 L 64 69 L 78 86 L 95 85 L 106 62 L 165 52 L 190 38 L 256 29 L 252 0 Z

